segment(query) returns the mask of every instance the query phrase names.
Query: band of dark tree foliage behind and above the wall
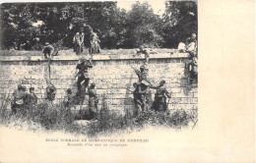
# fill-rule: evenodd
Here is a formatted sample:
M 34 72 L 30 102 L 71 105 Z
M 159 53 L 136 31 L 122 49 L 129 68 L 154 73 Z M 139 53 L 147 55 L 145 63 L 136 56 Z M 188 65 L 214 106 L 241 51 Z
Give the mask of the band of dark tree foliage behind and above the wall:
M 32 49 L 45 42 L 70 48 L 79 27 L 85 27 L 86 46 L 94 29 L 102 48 L 176 47 L 197 32 L 197 4 L 168 1 L 160 17 L 147 2 L 137 2 L 128 12 L 116 2 L 3 3 L 0 23 L 1 49 L 20 50 L 28 40 Z

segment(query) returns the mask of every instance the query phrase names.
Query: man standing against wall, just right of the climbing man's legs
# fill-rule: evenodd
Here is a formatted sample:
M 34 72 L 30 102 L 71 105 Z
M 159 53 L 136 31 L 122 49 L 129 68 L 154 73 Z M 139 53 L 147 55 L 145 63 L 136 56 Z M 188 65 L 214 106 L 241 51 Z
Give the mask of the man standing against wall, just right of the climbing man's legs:
M 86 93 L 89 95 L 89 110 L 93 118 L 96 118 L 97 115 L 97 103 L 98 98 L 96 94 L 96 83 L 93 82 L 88 88 L 88 92 Z

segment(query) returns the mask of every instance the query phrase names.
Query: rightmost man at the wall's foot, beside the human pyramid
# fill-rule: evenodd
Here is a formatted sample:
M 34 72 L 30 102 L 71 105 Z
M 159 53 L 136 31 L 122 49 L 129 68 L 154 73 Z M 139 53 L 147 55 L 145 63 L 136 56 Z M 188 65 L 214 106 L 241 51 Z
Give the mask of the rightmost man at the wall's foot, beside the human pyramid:
M 152 88 L 157 89 L 157 92 L 155 94 L 155 100 L 152 105 L 152 109 L 155 111 L 164 112 L 167 109 L 167 102 L 166 98 L 170 98 L 169 92 L 164 87 L 165 81 L 160 81 L 160 85 L 158 86 L 152 86 Z

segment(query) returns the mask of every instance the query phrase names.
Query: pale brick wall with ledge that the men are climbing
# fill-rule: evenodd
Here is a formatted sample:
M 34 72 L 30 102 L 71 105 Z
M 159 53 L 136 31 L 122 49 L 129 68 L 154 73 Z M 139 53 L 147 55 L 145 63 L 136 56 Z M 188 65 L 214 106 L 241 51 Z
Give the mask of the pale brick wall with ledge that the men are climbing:
M 88 57 L 88 56 L 87 56 Z M 128 55 L 96 55 L 94 68 L 90 69 L 91 82 L 96 83 L 96 91 L 105 94 L 111 109 L 131 108 L 133 82 L 138 81 L 132 67 L 137 69 L 143 64 L 144 56 Z M 80 56 L 56 56 L 50 64 L 50 81 L 57 88 L 55 103 L 63 100 L 67 88 L 76 91 L 76 64 Z M 42 56 L 2 56 L 0 98 L 12 94 L 19 83 L 35 87 L 39 99 L 45 98 L 45 88 L 49 83 L 48 61 Z M 149 78 L 158 84 L 166 81 L 166 88 L 172 92 L 169 109 L 197 109 L 197 84 L 187 82 L 185 62 L 186 53 L 164 53 L 151 55 L 149 62 Z M 132 66 L 132 67 L 131 67 Z M 28 90 L 27 90 L 28 91 Z M 156 90 L 152 89 L 153 98 Z M 85 101 L 87 103 L 87 101 Z

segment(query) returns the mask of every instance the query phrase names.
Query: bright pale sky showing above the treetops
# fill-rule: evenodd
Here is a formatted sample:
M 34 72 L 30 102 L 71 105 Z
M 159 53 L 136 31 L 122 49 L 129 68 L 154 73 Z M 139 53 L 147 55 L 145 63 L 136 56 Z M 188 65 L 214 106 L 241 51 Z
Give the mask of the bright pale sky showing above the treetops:
M 140 2 L 145 2 L 145 1 L 140 1 Z M 163 12 L 164 12 L 164 9 L 165 9 L 165 1 L 164 0 L 150 0 L 150 1 L 147 1 L 153 8 L 153 11 L 155 14 L 158 14 L 158 15 L 162 15 Z M 131 7 L 132 7 L 132 4 L 135 4 L 136 1 L 117 1 L 117 7 L 119 8 L 123 8 L 125 9 L 126 11 L 129 11 L 131 10 Z

